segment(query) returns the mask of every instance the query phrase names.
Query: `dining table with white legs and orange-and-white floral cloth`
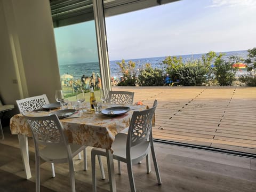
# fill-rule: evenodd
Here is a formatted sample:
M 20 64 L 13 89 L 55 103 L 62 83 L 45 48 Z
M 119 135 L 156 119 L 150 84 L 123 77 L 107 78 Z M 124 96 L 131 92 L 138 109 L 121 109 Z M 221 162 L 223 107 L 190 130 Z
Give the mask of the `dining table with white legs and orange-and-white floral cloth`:
M 83 110 L 77 111 L 74 115 L 66 118 L 61 118 L 60 122 L 63 125 L 64 133 L 66 134 L 69 143 L 98 147 L 106 150 L 110 191 L 116 191 L 112 155 L 113 150 L 111 149 L 111 145 L 115 140 L 115 135 L 129 127 L 133 111 L 144 110 L 147 109 L 148 106 L 125 105 L 125 107 L 129 107 L 130 110 L 127 110 L 126 113 L 122 113 L 121 115 L 95 114 L 90 106 L 90 103 L 84 103 Z M 102 111 L 103 109 L 118 106 L 122 107 L 123 105 L 106 104 L 102 107 Z M 58 110 L 61 109 L 28 111 L 26 115 L 45 116 L 54 114 Z M 28 137 L 32 137 L 32 134 L 29 124 L 22 114 L 14 115 L 10 119 L 10 130 L 11 134 L 18 135 L 23 167 L 26 173 L 26 179 L 29 179 L 31 178 L 31 171 L 28 156 Z

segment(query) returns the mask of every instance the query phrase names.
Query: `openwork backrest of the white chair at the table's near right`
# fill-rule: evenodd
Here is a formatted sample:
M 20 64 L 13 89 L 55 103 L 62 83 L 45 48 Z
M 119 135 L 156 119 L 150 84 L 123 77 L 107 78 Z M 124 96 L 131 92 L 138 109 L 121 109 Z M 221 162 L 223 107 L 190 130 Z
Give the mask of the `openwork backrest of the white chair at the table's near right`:
M 131 148 L 149 139 L 156 107 L 157 100 L 154 101 L 152 108 L 133 112 L 126 147 Z

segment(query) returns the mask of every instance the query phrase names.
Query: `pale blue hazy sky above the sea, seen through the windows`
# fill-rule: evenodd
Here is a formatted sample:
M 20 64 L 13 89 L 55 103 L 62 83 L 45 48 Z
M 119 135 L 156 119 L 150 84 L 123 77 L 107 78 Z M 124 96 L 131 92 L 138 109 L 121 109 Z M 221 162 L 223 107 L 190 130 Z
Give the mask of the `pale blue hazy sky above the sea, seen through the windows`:
M 255 0 L 183 0 L 106 18 L 109 60 L 248 50 Z M 98 61 L 94 21 L 55 28 L 61 63 Z

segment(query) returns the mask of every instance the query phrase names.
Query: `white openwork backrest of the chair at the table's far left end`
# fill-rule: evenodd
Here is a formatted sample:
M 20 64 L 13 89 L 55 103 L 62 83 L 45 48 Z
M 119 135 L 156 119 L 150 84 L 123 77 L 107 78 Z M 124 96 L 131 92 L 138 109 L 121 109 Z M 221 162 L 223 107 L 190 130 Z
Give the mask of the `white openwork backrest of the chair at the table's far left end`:
M 16 102 L 20 110 L 20 113 L 39 109 L 43 107 L 45 104 L 49 104 L 49 100 L 46 97 L 46 94 L 17 100 Z

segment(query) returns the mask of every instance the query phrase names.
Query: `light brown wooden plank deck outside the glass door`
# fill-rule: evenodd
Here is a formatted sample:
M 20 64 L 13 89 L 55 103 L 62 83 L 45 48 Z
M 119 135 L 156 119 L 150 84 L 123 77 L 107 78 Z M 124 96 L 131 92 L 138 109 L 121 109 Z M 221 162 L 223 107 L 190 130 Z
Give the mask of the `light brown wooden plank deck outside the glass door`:
M 113 87 L 158 100 L 154 138 L 256 154 L 256 87 Z

